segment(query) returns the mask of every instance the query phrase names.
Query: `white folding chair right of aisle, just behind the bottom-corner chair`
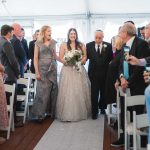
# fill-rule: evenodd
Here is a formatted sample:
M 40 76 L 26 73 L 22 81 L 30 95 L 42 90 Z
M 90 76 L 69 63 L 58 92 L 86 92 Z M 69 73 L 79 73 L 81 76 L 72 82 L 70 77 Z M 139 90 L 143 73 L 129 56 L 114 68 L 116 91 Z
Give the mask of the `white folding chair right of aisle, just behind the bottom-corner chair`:
M 127 107 L 145 105 L 145 96 L 127 96 L 125 94 L 125 150 L 129 149 L 130 145 L 130 135 L 133 135 L 133 122 L 130 121 L 130 113 L 127 111 Z

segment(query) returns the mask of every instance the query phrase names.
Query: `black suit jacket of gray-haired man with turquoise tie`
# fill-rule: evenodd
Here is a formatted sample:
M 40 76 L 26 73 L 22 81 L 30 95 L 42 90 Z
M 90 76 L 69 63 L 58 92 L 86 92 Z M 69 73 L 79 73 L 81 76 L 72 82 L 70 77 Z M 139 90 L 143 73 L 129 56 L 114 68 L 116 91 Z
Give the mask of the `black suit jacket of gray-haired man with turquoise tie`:
M 150 56 L 150 49 L 148 43 L 141 38 L 135 37 L 131 49 L 129 51 L 130 55 L 133 55 L 137 58 L 145 58 Z M 124 51 L 121 51 L 121 65 L 120 65 L 120 74 L 123 73 L 123 60 L 124 60 Z M 144 94 L 146 84 L 143 79 L 144 67 L 133 66 L 129 64 L 129 87 L 131 95 Z

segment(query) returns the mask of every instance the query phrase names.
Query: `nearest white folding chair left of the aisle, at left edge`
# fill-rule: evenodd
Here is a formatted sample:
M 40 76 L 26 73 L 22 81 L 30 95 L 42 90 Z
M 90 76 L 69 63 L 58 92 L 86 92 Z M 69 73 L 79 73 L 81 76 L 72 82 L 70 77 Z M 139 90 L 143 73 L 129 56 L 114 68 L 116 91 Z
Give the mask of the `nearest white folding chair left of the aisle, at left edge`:
M 15 84 L 8 85 L 4 84 L 5 92 L 9 92 L 11 94 L 9 99 L 9 105 L 7 105 L 7 111 L 9 113 L 9 122 L 8 127 L 1 128 L 1 130 L 7 131 L 7 140 L 10 138 L 10 130 L 15 131 L 14 128 L 14 112 L 13 112 L 13 106 L 14 106 L 14 96 L 15 96 Z

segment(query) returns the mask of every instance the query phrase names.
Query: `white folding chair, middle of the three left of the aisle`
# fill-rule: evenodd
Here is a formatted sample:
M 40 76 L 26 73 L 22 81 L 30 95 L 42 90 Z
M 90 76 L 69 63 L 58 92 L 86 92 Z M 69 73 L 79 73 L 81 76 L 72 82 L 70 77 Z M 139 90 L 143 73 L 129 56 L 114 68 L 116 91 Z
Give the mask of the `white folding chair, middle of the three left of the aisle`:
M 30 85 L 30 78 L 24 79 L 20 78 L 17 80 L 17 84 L 25 85 L 25 95 L 17 95 L 17 101 L 18 102 L 24 102 L 24 111 L 17 111 L 17 116 L 23 116 L 23 123 L 26 121 L 26 115 L 27 115 L 27 107 L 28 107 L 28 96 L 29 96 L 29 85 Z

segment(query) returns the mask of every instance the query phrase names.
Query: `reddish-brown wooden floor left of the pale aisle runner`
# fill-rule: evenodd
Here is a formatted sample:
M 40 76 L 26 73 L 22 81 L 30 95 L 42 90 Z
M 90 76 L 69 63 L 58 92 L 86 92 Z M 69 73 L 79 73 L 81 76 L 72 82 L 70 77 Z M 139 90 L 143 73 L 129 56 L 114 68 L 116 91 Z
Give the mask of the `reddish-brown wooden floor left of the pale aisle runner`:
M 0 145 L 0 150 L 33 150 L 53 120 L 46 118 L 42 123 L 28 122 L 24 127 L 16 128 L 10 139 Z

